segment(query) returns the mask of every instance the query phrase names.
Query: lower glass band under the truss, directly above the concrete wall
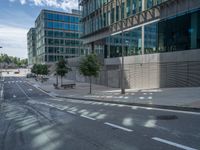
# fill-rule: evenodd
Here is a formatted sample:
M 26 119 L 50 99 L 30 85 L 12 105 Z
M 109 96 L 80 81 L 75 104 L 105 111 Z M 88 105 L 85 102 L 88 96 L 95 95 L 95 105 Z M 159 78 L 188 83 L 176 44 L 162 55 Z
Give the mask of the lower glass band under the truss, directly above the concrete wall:
M 200 11 L 145 25 L 144 54 L 200 49 L 199 27 Z M 121 34 L 111 36 L 111 42 L 107 43 L 110 46 L 108 57 L 121 56 L 121 43 L 125 48 L 125 56 L 142 54 L 141 34 L 140 27 L 124 32 L 123 36 Z

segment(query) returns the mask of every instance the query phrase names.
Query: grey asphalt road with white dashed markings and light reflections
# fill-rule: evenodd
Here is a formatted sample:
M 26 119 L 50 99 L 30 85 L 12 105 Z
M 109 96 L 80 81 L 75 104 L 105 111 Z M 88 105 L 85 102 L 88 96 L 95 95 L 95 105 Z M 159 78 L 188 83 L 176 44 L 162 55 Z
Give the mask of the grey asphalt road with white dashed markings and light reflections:
M 200 150 L 200 113 L 58 99 L 1 81 L 0 150 Z

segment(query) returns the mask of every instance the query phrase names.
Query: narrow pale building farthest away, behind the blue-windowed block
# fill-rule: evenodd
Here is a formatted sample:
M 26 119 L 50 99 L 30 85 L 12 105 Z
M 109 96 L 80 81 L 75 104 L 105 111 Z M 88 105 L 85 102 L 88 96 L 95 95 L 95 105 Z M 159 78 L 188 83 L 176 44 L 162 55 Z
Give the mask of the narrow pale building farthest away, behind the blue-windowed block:
M 36 35 L 35 28 L 31 28 L 27 33 L 28 65 L 36 63 Z

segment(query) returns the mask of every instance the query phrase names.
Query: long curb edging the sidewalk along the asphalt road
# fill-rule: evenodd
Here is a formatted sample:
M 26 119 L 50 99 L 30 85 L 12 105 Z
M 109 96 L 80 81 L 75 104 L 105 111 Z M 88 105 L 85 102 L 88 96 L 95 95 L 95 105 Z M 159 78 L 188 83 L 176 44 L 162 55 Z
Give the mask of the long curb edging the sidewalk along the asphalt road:
M 122 104 L 122 105 L 129 105 L 129 106 L 140 106 L 140 107 L 147 107 L 147 108 L 148 107 L 152 107 L 152 108 L 171 109 L 171 110 L 179 110 L 179 111 L 187 111 L 187 112 L 200 112 L 200 108 L 195 108 L 195 107 L 167 106 L 167 105 L 156 105 L 156 104 L 141 104 L 141 103 L 121 102 L 121 101 L 106 101 L 106 100 L 99 100 L 99 99 L 88 99 L 88 98 L 67 97 L 67 96 L 55 96 L 55 97 L 73 99 L 73 100 L 104 102 L 104 103 L 110 103 L 110 104 Z

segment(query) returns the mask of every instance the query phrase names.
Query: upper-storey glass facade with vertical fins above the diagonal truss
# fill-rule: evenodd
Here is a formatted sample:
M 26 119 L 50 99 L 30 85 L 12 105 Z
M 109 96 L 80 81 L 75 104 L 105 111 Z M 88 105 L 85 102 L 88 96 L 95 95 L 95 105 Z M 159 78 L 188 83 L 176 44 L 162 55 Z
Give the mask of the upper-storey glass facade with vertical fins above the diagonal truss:
M 150 9 L 167 0 L 144 0 L 144 9 Z M 88 0 L 82 5 L 83 35 L 87 35 L 110 26 L 121 18 L 125 19 L 142 11 L 142 0 Z M 105 6 L 107 8 L 105 9 Z M 94 12 L 98 9 L 96 15 Z

